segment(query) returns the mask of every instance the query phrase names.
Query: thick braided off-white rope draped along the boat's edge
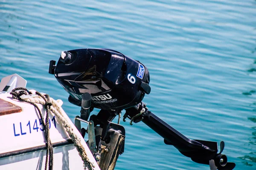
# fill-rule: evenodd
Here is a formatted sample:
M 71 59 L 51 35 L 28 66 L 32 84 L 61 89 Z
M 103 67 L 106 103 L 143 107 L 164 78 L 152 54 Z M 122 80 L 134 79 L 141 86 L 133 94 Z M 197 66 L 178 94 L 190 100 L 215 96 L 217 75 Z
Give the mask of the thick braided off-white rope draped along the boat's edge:
M 34 96 L 27 99 L 24 99 L 26 101 L 30 101 L 33 103 L 40 103 L 41 105 L 45 105 L 45 101 L 41 96 Z M 73 128 L 70 126 L 69 122 L 63 115 L 63 110 L 58 105 L 58 102 L 56 100 L 52 99 L 50 97 L 50 102 L 52 103 L 52 106 L 50 107 L 50 111 L 55 115 L 55 117 L 58 119 L 59 122 L 61 122 L 67 131 L 68 135 L 70 136 L 71 140 L 74 142 L 74 145 L 76 147 L 76 150 L 79 152 L 79 156 L 81 157 L 82 161 L 84 162 L 84 169 L 86 169 L 87 164 L 89 163 L 91 167 L 95 167 L 93 163 L 89 160 L 87 157 L 86 151 L 84 149 L 84 146 L 81 144 L 81 141 L 79 137 L 74 133 Z

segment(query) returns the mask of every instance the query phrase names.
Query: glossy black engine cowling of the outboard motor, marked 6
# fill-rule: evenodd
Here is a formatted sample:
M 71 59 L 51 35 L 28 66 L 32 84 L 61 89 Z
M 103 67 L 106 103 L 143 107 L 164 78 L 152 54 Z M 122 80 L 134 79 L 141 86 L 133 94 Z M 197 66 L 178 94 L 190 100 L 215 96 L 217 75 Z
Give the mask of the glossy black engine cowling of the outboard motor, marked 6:
M 122 110 L 139 104 L 151 91 L 148 69 L 110 49 L 64 51 L 54 74 L 70 94 L 69 101 L 79 106 L 87 92 L 94 108 Z

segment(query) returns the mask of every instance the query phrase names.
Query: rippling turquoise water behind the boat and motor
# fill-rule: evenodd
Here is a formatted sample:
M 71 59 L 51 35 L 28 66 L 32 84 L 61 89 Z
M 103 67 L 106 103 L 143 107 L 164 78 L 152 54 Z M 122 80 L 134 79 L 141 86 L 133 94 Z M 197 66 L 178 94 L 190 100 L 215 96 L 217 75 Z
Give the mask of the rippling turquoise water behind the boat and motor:
M 0 0 L 0 77 L 17 73 L 27 88 L 62 99 L 71 119 L 80 109 L 48 67 L 76 48 L 140 60 L 151 76 L 143 101 L 154 114 L 191 139 L 223 140 L 237 170 L 256 169 L 255 0 Z M 117 170 L 209 170 L 142 122 L 121 124 Z

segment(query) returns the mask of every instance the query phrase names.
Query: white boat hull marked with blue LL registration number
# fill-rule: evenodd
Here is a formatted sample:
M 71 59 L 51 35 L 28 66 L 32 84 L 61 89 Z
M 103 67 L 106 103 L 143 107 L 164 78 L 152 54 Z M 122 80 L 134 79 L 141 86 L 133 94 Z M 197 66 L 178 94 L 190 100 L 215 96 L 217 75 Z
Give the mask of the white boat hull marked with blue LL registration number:
M 31 104 L 12 99 L 9 93 L 0 94 L 0 99 L 22 108 L 22 111 L 19 113 L 2 114 L 0 116 L 0 170 L 44 170 L 46 140 L 41 120 L 35 107 Z M 41 104 L 37 105 L 45 119 L 45 108 Z M 79 136 L 89 160 L 95 166 L 94 170 L 100 170 L 81 134 L 63 110 L 62 113 L 72 126 L 73 131 Z M 49 119 L 50 139 L 54 153 L 53 169 L 83 170 L 83 161 L 76 147 L 74 147 L 71 138 L 66 130 L 64 130 L 62 123 L 52 113 L 49 114 Z

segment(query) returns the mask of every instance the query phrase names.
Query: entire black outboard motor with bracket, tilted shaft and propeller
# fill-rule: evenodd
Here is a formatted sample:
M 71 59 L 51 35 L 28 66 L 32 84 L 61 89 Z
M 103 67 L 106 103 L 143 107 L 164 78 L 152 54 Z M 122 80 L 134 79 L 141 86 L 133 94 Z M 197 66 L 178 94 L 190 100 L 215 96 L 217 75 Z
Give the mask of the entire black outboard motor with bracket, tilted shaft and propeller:
M 110 49 L 77 49 L 62 52 L 56 66 L 50 61 L 49 73 L 70 94 L 69 101 L 81 106 L 75 125 L 83 136 L 88 133 L 89 148 L 102 170 L 112 170 L 124 152 L 125 129 L 119 125 L 122 110 L 124 122 L 128 118 L 131 125 L 145 123 L 165 144 L 192 161 L 208 164 L 212 170 L 233 170 L 236 166 L 221 154 L 223 141 L 218 153 L 217 142 L 189 139 L 148 110 L 142 100 L 151 91 L 149 72 L 139 61 Z M 101 111 L 88 122 L 93 108 Z M 112 122 L 117 115 L 118 124 Z M 87 130 L 81 129 L 80 121 L 88 123 Z

